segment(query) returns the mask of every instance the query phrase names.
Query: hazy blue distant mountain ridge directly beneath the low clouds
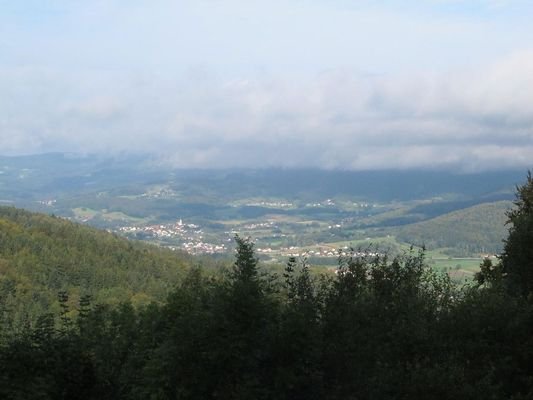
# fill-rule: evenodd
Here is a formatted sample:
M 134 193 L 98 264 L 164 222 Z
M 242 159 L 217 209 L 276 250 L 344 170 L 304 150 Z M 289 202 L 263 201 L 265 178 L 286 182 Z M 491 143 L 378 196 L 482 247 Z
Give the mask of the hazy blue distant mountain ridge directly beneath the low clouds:
M 206 186 L 223 198 L 252 195 L 409 200 L 428 196 L 461 194 L 464 198 L 512 196 L 523 171 L 490 171 L 458 174 L 450 171 L 383 170 L 340 171 L 318 169 L 173 169 L 142 156 L 40 154 L 0 156 L 0 198 L 52 194 L 120 184 L 174 182 L 177 187 L 203 190 Z M 510 198 L 510 197 L 509 197 Z

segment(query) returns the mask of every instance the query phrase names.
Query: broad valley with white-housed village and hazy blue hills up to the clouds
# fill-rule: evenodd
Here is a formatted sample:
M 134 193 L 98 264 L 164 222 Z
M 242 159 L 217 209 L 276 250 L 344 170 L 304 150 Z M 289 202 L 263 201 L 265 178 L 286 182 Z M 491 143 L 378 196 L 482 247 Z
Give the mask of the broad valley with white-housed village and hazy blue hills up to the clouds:
M 4 205 L 46 212 L 190 254 L 231 257 L 236 234 L 264 261 L 338 252 L 395 255 L 471 276 L 507 234 L 521 172 L 179 170 L 148 158 L 49 154 L 0 159 Z

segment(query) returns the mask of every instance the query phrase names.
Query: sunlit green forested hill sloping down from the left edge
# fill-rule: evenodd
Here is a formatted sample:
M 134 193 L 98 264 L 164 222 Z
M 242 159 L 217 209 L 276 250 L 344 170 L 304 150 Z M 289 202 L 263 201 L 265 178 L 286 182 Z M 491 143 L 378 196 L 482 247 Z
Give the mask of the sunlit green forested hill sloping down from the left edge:
M 190 262 L 181 252 L 0 207 L 0 311 L 19 322 L 58 307 L 61 291 L 72 308 L 81 296 L 112 304 L 163 300 Z

